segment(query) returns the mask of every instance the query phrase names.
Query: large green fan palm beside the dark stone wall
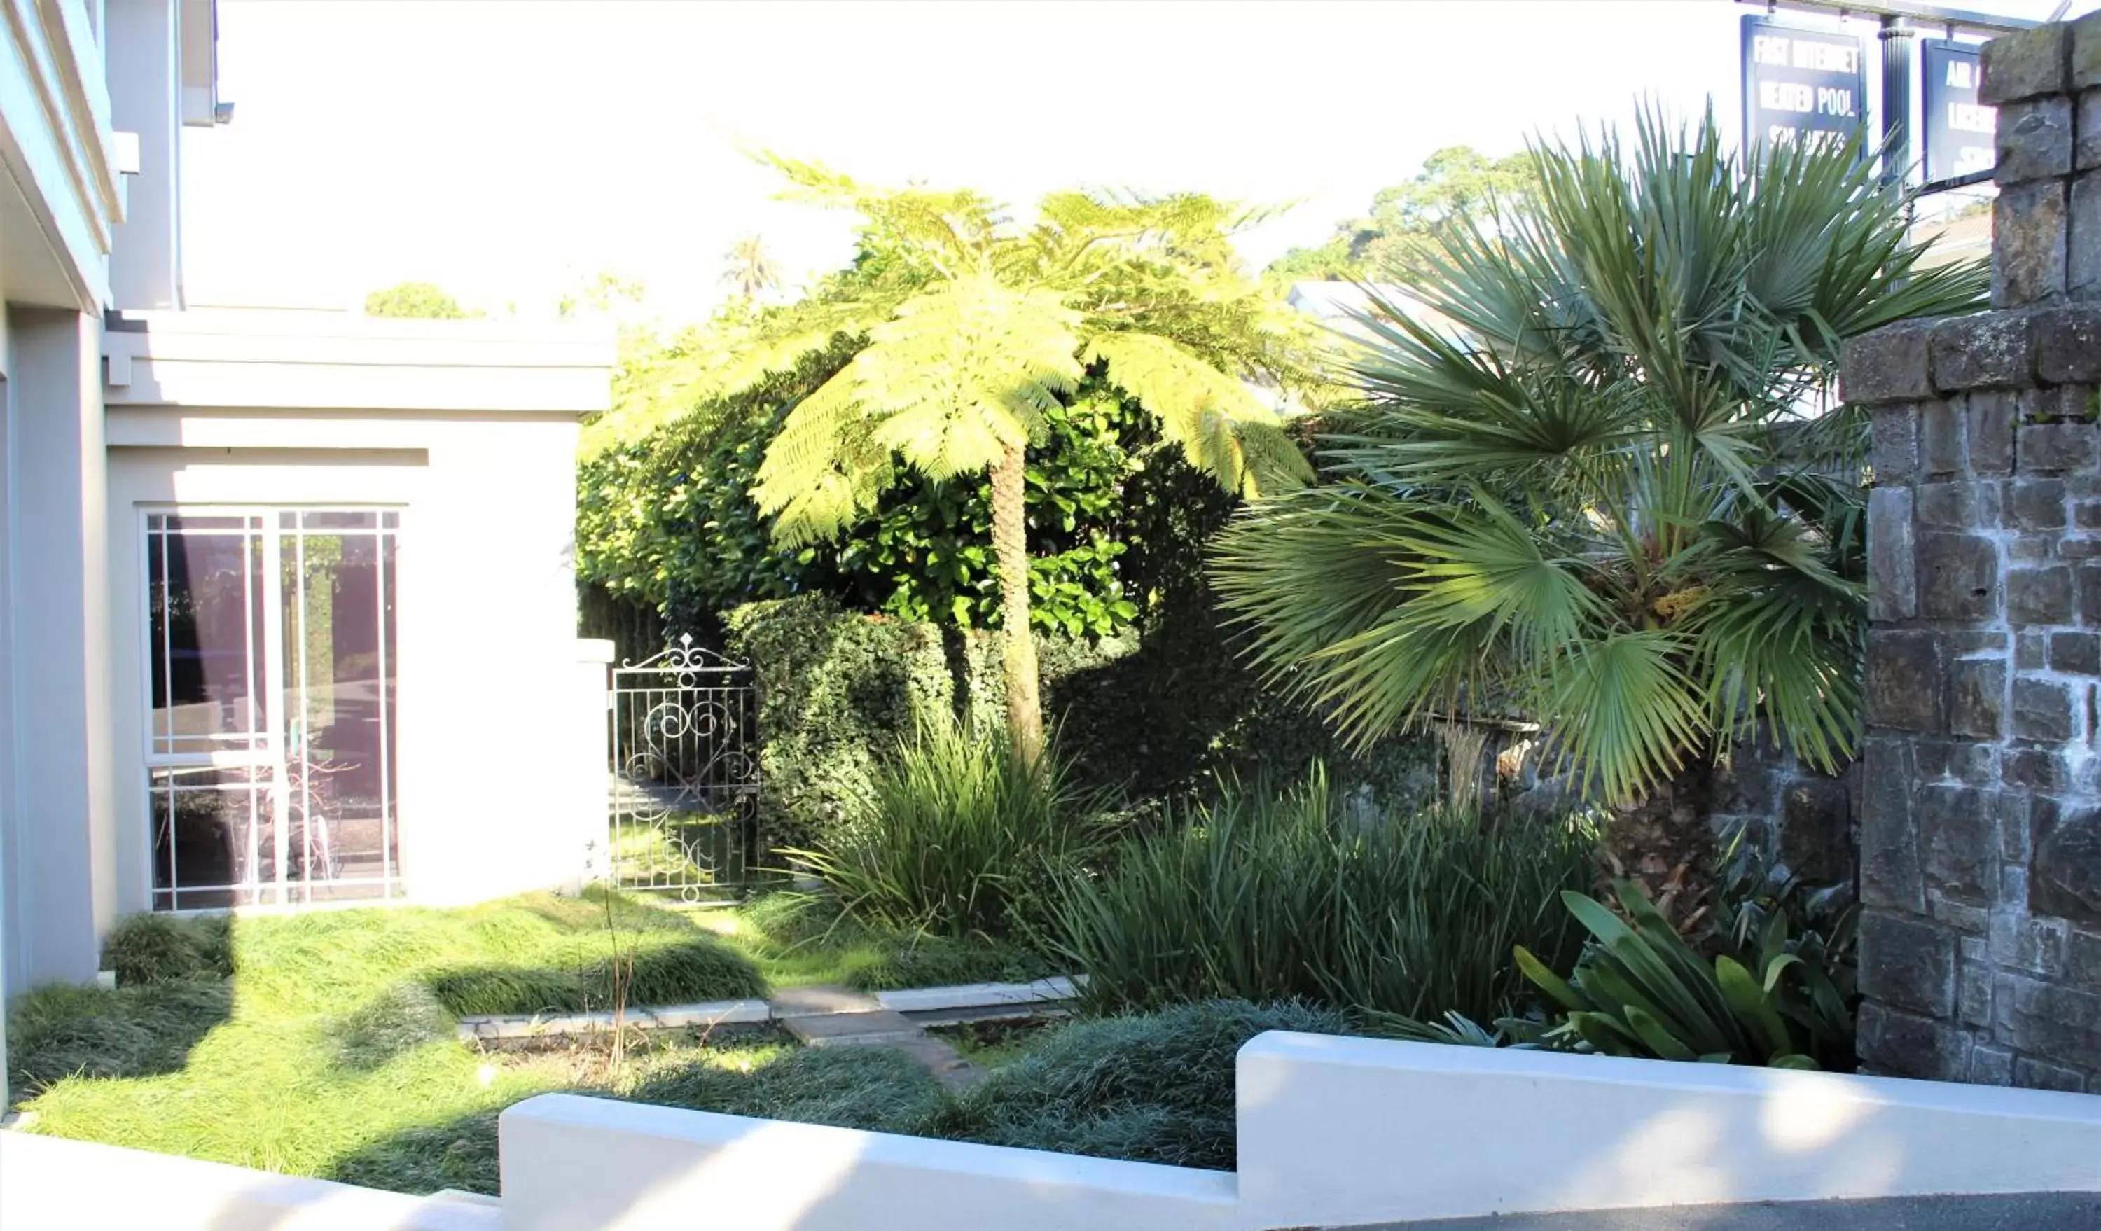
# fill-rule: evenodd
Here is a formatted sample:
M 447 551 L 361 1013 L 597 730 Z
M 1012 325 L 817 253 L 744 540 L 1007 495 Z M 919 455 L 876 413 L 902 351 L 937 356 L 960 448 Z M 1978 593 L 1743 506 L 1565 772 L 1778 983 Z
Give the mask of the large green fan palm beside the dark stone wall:
M 1254 653 L 1357 739 L 1542 723 L 1651 889 L 1706 872 L 1700 781 L 1859 725 L 1864 450 L 1843 338 L 1981 307 L 1859 147 L 1740 158 L 1712 116 L 1532 149 L 1538 195 L 1448 227 L 1351 363 L 1328 483 L 1221 536 Z

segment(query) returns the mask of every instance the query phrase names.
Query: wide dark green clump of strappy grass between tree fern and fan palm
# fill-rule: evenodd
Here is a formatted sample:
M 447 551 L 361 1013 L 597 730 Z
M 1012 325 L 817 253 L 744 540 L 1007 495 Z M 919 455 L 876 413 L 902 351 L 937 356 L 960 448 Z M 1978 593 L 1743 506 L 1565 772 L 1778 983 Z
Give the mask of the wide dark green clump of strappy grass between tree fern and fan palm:
M 1567 821 L 1351 815 L 1315 769 L 1067 878 L 1044 941 L 1088 973 L 1095 1008 L 1240 996 L 1496 1015 L 1523 987 L 1511 945 L 1574 958 L 1555 893 L 1588 884 L 1590 849 Z

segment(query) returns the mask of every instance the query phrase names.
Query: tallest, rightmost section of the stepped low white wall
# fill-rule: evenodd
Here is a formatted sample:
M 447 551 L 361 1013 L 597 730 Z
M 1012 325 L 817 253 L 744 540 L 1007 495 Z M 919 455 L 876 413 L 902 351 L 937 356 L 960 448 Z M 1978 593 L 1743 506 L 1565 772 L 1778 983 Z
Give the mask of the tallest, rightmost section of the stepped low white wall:
M 2101 1191 L 2101 1099 L 1265 1034 L 1240 1052 L 1240 1227 Z

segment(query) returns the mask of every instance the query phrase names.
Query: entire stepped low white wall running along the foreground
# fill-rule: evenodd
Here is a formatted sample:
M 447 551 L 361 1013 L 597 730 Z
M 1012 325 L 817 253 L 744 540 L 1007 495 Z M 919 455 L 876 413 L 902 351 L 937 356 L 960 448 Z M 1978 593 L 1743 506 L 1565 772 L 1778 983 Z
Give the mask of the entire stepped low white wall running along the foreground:
M 2101 1191 L 2101 1097 L 1305 1034 L 1240 1052 L 1240 1170 L 645 1107 L 500 1122 L 502 1231 L 1269 1231 Z M 0 1132 L 0 1227 L 496 1231 L 399 1197 Z

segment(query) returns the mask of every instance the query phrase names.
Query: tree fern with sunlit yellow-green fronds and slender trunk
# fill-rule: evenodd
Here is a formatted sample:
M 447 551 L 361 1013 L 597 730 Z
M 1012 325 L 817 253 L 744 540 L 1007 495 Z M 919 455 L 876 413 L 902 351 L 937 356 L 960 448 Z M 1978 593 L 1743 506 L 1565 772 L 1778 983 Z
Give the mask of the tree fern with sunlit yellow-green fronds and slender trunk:
M 1019 229 L 975 193 L 864 189 L 775 160 L 803 193 L 868 221 L 857 277 L 798 307 L 782 351 L 834 332 L 868 347 L 803 399 L 752 489 L 798 546 L 874 508 L 903 468 L 990 475 L 1006 718 L 1017 758 L 1042 750 L 1029 632 L 1027 447 L 1093 370 L 1160 422 L 1183 458 L 1254 496 L 1311 479 L 1250 380 L 1311 380 L 1292 326 L 1240 277 L 1227 235 L 1254 221 L 1202 195 L 1053 193 Z

